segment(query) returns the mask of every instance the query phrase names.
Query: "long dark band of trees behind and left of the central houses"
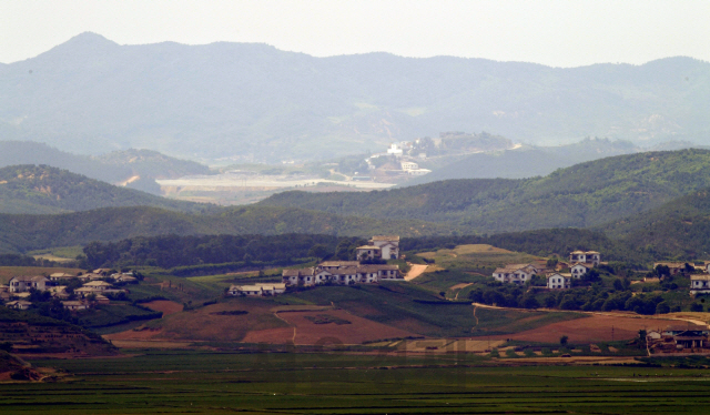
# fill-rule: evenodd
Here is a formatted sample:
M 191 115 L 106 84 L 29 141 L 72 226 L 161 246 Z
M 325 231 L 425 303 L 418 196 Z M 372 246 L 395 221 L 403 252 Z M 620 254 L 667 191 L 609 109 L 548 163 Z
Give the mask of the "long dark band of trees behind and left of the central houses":
M 91 267 L 152 265 L 163 269 L 231 262 L 353 260 L 359 237 L 287 234 L 266 235 L 162 235 L 119 242 L 92 242 L 84 247 Z

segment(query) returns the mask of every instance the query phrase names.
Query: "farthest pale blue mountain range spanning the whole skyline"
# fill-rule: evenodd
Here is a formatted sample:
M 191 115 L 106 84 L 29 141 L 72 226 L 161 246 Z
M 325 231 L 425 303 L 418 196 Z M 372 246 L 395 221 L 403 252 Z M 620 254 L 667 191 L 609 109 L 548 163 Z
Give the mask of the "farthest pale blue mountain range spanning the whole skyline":
M 264 44 L 119 45 L 83 33 L 0 68 L 0 136 L 77 152 L 332 158 L 439 131 L 534 144 L 582 136 L 708 140 L 710 63 L 560 69 Z

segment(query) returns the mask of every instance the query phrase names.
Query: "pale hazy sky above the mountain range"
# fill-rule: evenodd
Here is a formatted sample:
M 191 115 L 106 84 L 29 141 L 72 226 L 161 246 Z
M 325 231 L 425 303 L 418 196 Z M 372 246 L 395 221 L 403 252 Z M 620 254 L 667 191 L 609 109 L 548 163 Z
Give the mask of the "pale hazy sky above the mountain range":
M 84 31 L 121 44 L 261 42 L 318 57 L 386 51 L 555 67 L 710 61 L 708 0 L 0 0 L 0 62 Z

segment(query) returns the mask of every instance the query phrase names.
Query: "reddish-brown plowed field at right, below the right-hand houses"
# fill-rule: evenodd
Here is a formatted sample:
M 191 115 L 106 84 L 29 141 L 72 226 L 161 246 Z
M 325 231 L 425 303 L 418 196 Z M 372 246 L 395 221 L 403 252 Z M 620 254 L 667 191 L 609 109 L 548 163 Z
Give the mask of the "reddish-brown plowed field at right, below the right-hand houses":
M 558 342 L 561 336 L 568 336 L 570 343 L 609 342 L 611 341 L 611 327 L 613 327 L 613 340 L 619 341 L 638 337 L 639 330 L 665 328 L 669 325 L 679 325 L 679 323 L 678 321 L 661 318 L 592 315 L 587 318 L 552 323 L 542 327 L 496 337 L 550 343 Z

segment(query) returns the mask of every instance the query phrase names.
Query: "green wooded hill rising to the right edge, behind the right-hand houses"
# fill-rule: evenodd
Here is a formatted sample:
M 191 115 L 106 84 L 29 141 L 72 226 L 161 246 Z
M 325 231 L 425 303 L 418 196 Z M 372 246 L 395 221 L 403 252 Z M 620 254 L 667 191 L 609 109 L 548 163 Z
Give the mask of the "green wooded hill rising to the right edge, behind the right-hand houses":
M 650 152 L 577 164 L 545 178 L 450 180 L 371 193 L 285 192 L 260 203 L 447 221 L 479 232 L 587 227 L 709 186 L 709 165 L 707 150 Z

